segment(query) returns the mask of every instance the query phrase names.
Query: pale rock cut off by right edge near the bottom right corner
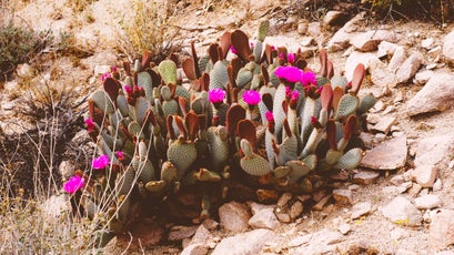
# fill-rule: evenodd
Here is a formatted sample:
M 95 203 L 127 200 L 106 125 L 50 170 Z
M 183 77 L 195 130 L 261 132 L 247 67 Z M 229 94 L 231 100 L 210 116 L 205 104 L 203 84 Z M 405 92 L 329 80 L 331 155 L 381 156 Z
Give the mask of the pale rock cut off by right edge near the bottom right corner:
M 435 248 L 454 244 L 454 211 L 440 210 L 433 215 L 428 227 L 428 241 Z

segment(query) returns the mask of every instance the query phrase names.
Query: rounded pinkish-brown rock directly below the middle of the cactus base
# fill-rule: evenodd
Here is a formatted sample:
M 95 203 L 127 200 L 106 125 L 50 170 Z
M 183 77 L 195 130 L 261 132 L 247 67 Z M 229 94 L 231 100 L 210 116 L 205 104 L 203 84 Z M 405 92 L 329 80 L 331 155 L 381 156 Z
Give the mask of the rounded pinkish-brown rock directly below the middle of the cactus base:
M 245 204 L 230 202 L 219 208 L 221 226 L 231 232 L 244 232 L 248 230 L 251 214 Z

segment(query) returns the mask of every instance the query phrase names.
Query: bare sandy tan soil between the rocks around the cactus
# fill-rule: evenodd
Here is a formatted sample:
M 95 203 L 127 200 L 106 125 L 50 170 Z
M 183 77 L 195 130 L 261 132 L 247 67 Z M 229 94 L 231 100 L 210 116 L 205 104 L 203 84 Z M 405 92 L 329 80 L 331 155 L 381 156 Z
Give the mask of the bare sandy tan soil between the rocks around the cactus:
M 170 2 L 170 1 L 169 1 Z M 188 4 L 183 8 L 183 2 Z M 234 29 L 242 29 L 244 32 L 253 37 L 255 34 L 255 28 L 258 20 L 261 18 L 268 18 L 274 24 L 270 35 L 282 35 L 294 41 L 297 45 L 306 37 L 312 37 L 316 41 L 317 48 L 323 48 L 333 33 L 340 28 L 323 27 L 320 34 L 305 34 L 299 33 L 296 30 L 297 24 L 304 22 L 312 22 L 312 20 L 305 17 L 299 17 L 297 12 L 292 12 L 287 7 L 292 1 L 203 1 L 190 3 L 190 1 L 179 1 L 179 4 L 174 7 L 176 10 L 175 22 L 181 28 L 179 38 L 183 40 L 184 50 L 188 50 L 189 42 L 196 40 L 196 47 L 199 52 L 204 52 L 209 43 L 214 42 L 225 30 L 232 31 Z M 51 28 L 54 31 L 72 31 L 74 32 L 79 44 L 93 52 L 89 58 L 74 61 L 71 57 L 62 57 L 54 63 L 48 64 L 48 69 L 44 72 L 58 73 L 54 78 L 56 83 L 69 83 L 78 84 L 80 88 L 80 95 L 100 88 L 99 82 L 100 73 L 94 73 L 95 67 L 111 65 L 124 59 L 115 47 L 117 44 L 117 31 L 118 17 L 120 13 L 127 14 L 127 10 L 131 10 L 127 0 L 115 1 L 113 4 L 109 0 L 93 1 L 89 6 L 87 11 L 73 14 L 68 8 L 65 0 L 50 1 L 50 0 L 32 0 L 28 3 L 19 4 L 18 14 L 28 21 L 37 30 L 46 30 Z M 89 23 L 84 16 L 90 11 L 94 21 Z M 58 17 L 58 18 L 56 18 Z M 319 20 L 322 21 L 322 20 Z M 421 21 L 406 21 L 391 19 L 383 21 L 383 23 L 371 20 L 364 24 L 364 31 L 374 30 L 376 28 L 384 28 L 393 30 L 400 34 L 403 34 L 405 39 L 400 42 L 410 51 L 421 51 L 421 41 L 426 38 L 434 39 L 434 44 L 440 45 L 443 37 L 454 29 L 453 23 L 448 23 L 445 28 L 441 28 L 434 22 L 421 22 Z M 344 63 L 347 58 L 345 52 L 347 49 L 330 53 L 329 58 L 334 62 L 335 72 L 343 71 Z M 309 65 L 314 70 L 319 68 L 317 54 L 311 57 Z M 424 67 L 423 67 L 424 68 Z M 422 69 L 423 69 L 422 68 Z M 440 64 L 437 72 L 452 72 L 447 65 Z M 11 88 L 17 84 L 17 81 L 10 81 L 3 89 L 3 103 L 8 99 L 7 93 L 11 91 Z M 262 253 L 281 253 L 289 254 L 291 249 L 286 247 L 290 239 L 296 236 L 315 233 L 322 230 L 339 230 L 340 221 L 346 221 L 351 226 L 351 231 L 343 235 L 339 241 L 337 248 L 333 248 L 329 254 L 337 254 L 342 251 L 346 251 L 352 244 L 365 243 L 365 246 L 371 251 L 379 251 L 380 254 L 433 254 L 436 252 L 431 246 L 428 235 L 428 224 L 423 224 L 416 227 L 408 227 L 400 224 L 392 223 L 389 218 L 384 217 L 380 208 L 389 204 L 396 195 L 387 194 L 383 192 L 390 184 L 390 178 L 397 174 L 403 174 L 408 169 L 413 167 L 414 152 L 416 150 L 416 142 L 420 139 L 430 137 L 433 135 L 452 133 L 454 128 L 454 109 L 451 108 L 442 113 L 423 114 L 422 116 L 410 118 L 406 112 L 406 102 L 413 98 L 422 89 L 422 85 L 413 84 L 411 81 L 407 84 L 398 85 L 391 90 L 391 93 L 380 98 L 385 105 L 393 105 L 395 110 L 393 115 L 396 116 L 395 126 L 403 132 L 408 139 L 408 159 L 406 165 L 396 171 L 376 171 L 380 173 L 380 177 L 372 184 L 359 185 L 354 191 L 352 204 L 359 202 L 369 201 L 372 203 L 372 208 L 369 215 L 365 215 L 359 220 L 351 221 L 347 215 L 351 213 L 352 205 L 341 205 L 330 201 L 322 211 L 310 211 L 304 214 L 294 223 L 282 224 L 279 228 L 273 230 L 281 237 L 281 243 L 271 245 Z M 373 84 L 369 84 L 365 90 L 379 90 L 374 89 Z M 393 99 L 397 93 L 404 93 L 405 99 L 401 103 L 394 103 Z M 4 104 L 3 104 L 4 106 Z M 374 139 L 372 139 L 374 140 Z M 371 146 L 375 146 L 372 143 Z M 445 170 L 441 174 L 443 178 L 443 190 L 437 195 L 443 201 L 443 208 L 454 210 L 454 191 L 450 191 L 450 187 L 454 184 L 452 181 L 453 175 Z M 340 187 L 349 187 L 352 182 L 344 181 L 340 184 Z M 424 191 L 423 191 L 424 192 Z M 425 191 L 425 193 L 432 193 L 432 190 Z M 408 195 L 410 196 L 410 195 Z M 398 232 L 400 236 L 391 236 L 390 233 Z M 213 236 L 224 238 L 230 234 L 223 228 L 212 231 Z M 283 241 L 282 241 L 283 239 Z M 220 242 L 218 239 L 216 242 Z M 114 243 L 114 242 L 113 242 Z M 118 242 L 121 245 L 121 242 Z M 107 253 L 113 253 L 114 251 L 122 251 L 124 247 L 115 247 L 115 243 L 110 245 L 110 249 Z M 140 248 L 130 251 L 131 253 L 140 253 Z M 168 246 L 148 247 L 147 254 L 160 254 L 160 253 L 180 253 L 182 249 L 180 243 L 170 244 Z M 443 248 L 445 251 L 453 249 L 452 246 Z M 451 253 L 450 253 L 451 254 Z

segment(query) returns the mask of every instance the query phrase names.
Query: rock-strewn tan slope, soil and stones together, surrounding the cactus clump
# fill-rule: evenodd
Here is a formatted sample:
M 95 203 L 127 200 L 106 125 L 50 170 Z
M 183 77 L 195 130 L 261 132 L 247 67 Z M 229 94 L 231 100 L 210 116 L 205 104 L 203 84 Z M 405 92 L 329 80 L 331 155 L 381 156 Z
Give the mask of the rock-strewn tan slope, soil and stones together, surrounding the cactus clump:
M 81 26 L 73 30 L 93 55 L 73 64 L 59 60 L 57 69 L 72 74 L 54 82 L 77 82 L 84 93 L 100 85 L 100 74 L 121 59 L 108 50 L 115 44 L 111 13 L 127 10 L 127 2 L 91 4 L 95 21 L 79 20 Z M 333 176 L 333 194 L 314 194 L 317 203 L 312 210 L 302 206 L 310 197 L 290 194 L 276 205 L 230 202 L 221 206 L 219 222 L 155 227 L 151 233 L 147 227 L 137 230 L 143 246 L 134 241 L 131 253 L 142 247 L 150 254 L 454 254 L 453 23 L 444 29 L 417 21 L 377 24 L 360 13 L 336 24 L 339 16 L 331 12 L 314 22 L 272 1 L 209 1 L 175 8 L 184 47 L 196 39 L 202 52 L 224 30 L 236 28 L 254 35 L 256 20 L 268 18 L 272 34 L 265 42 L 302 49 L 314 70 L 321 48 L 330 50 L 335 72 L 347 78 L 359 62 L 364 63 L 370 75 L 362 92 L 372 92 L 377 103 L 369 115 L 371 132 L 362 134 L 369 150 L 361 166 Z M 52 20 L 56 11 L 61 17 Z M 32 1 L 19 14 L 37 29 L 50 26 L 56 31 L 77 20 L 63 0 Z M 6 95 L 14 85 L 11 81 L 2 91 L 1 111 L 9 116 L 14 115 L 13 104 Z M 287 212 L 294 221 L 282 223 L 285 215 L 280 212 L 289 200 L 300 201 L 301 206 Z M 170 245 L 154 246 L 162 233 Z M 128 241 L 129 236 L 117 238 L 107 253 L 122 251 Z

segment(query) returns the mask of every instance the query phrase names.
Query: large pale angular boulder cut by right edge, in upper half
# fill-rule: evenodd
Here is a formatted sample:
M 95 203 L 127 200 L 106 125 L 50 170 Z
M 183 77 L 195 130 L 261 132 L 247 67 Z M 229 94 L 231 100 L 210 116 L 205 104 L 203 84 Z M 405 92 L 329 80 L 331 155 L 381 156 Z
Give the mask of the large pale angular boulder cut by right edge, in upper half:
M 421 113 L 444 111 L 454 105 L 454 75 L 440 73 L 408 101 L 406 113 L 414 116 Z

